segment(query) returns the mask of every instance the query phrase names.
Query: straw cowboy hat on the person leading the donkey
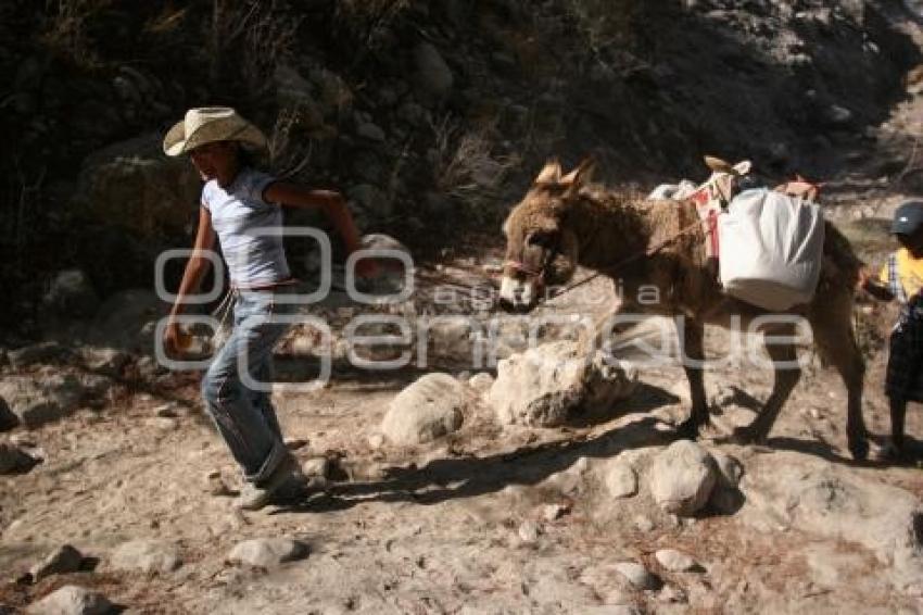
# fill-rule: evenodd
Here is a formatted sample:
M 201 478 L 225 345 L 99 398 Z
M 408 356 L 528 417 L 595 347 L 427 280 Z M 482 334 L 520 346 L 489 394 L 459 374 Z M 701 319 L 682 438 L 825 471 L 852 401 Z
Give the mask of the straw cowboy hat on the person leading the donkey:
M 266 147 L 266 136 L 230 106 L 190 109 L 164 137 L 164 153 L 179 155 L 215 141 L 239 141 L 248 149 Z

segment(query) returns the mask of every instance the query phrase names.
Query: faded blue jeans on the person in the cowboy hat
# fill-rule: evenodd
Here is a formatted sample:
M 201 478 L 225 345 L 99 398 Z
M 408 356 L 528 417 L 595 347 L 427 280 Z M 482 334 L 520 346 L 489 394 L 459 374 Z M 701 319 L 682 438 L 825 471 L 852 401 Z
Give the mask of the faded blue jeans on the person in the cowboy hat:
M 291 305 L 277 303 L 275 290 L 232 290 L 233 330 L 212 359 L 202 379 L 202 397 L 215 426 L 240 464 L 244 478 L 260 485 L 288 454 L 269 391 L 248 386 L 243 376 L 269 386 L 273 377 L 273 347 L 287 323 L 269 319 L 289 313 Z

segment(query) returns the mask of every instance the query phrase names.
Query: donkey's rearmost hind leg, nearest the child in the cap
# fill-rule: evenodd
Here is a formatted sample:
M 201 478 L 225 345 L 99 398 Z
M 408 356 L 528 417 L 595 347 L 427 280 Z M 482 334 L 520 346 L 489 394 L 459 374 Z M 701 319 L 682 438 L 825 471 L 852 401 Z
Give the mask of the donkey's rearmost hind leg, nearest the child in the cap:
M 852 332 L 852 299 L 849 298 L 848 306 L 812 317 L 811 327 L 821 356 L 836 368 L 846 385 L 846 437 L 849 453 L 857 461 L 864 460 L 869 454 L 868 431 L 862 419 L 865 361 Z

